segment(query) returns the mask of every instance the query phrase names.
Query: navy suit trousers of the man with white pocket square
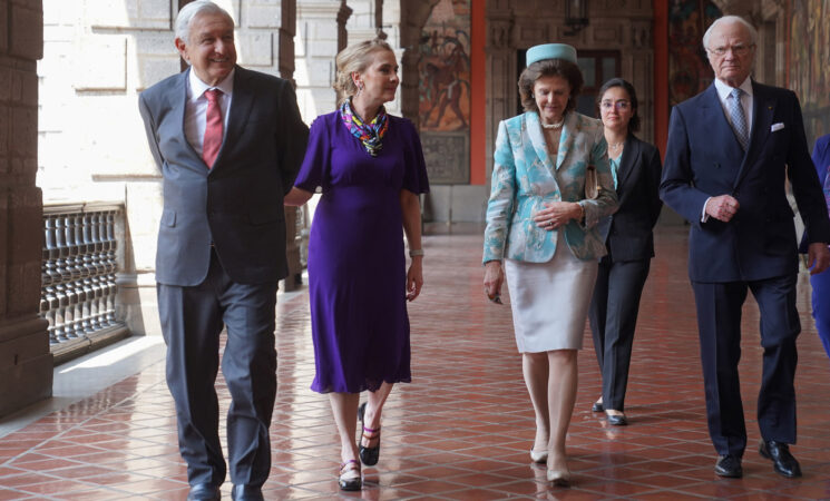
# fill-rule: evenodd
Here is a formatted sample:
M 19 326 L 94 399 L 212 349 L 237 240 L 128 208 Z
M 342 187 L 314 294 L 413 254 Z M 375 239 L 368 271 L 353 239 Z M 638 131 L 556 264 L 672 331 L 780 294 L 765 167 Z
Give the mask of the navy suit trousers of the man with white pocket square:
M 741 307 L 746 291 L 761 312 L 763 375 L 758 420 L 764 440 L 795 443 L 797 275 L 753 282 L 692 282 L 697 305 L 709 431 L 719 454 L 743 455 L 746 426 L 741 404 Z

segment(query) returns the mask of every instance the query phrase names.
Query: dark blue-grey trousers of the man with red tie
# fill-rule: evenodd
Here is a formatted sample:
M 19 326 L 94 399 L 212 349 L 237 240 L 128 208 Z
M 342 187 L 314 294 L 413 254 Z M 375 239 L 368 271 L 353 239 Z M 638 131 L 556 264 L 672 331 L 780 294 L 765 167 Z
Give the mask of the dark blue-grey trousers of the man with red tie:
M 219 485 L 225 480 L 214 384 L 219 333 L 226 326 L 222 373 L 232 399 L 227 412 L 231 480 L 261 487 L 271 470 L 268 426 L 276 397 L 274 324 L 279 283 L 236 284 L 212 254 L 202 284 L 157 285 L 179 450 L 187 462 L 191 484 Z

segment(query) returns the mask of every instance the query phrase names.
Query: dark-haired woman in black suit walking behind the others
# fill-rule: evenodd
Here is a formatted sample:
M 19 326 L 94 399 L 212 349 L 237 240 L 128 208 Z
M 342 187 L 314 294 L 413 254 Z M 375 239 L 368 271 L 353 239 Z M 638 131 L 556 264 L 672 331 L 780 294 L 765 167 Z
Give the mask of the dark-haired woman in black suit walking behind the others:
M 605 126 L 608 159 L 619 208 L 602 223 L 608 250 L 599 261 L 588 318 L 594 350 L 603 374 L 603 395 L 594 404 L 608 423 L 627 424 L 624 414 L 634 327 L 639 297 L 654 256 L 652 228 L 660 200 L 660 151 L 634 136 L 639 127 L 637 95 L 622 78 L 605 82 L 597 94 Z

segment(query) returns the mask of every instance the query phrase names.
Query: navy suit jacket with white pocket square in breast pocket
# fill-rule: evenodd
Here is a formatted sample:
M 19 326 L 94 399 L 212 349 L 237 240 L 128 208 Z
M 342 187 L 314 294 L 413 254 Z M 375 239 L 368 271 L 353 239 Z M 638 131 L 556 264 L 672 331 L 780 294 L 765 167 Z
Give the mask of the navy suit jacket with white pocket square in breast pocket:
M 744 155 L 714 85 L 672 110 L 661 198 L 692 225 L 693 282 L 749 282 L 798 272 L 789 177 L 810 242 L 830 242 L 830 220 L 807 149 L 801 107 L 787 89 L 755 81 Z M 701 222 L 706 198 L 731 195 L 740 208 L 723 223 Z

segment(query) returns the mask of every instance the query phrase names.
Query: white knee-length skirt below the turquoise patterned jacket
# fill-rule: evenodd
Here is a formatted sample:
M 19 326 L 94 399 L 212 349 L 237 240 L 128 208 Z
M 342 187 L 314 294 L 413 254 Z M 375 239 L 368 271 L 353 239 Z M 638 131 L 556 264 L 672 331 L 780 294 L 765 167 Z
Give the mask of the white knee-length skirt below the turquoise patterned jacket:
M 583 347 L 597 259 L 574 256 L 565 232 L 547 263 L 505 259 L 516 345 L 520 353 Z

